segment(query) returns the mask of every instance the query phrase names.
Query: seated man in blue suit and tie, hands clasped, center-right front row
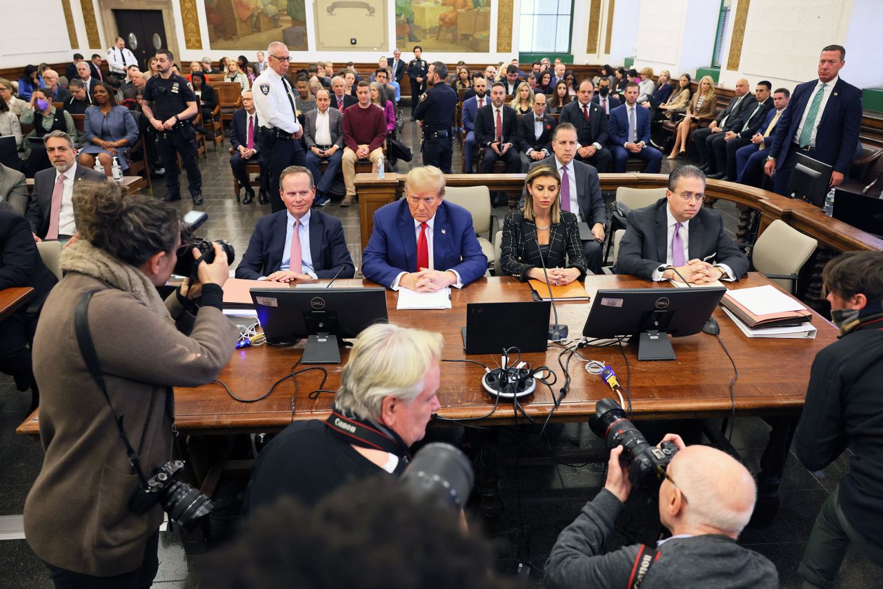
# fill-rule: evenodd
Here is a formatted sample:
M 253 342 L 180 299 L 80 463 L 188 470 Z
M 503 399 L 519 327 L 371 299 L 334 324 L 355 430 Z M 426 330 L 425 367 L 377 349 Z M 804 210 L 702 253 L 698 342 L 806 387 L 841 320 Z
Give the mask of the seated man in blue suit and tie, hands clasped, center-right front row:
M 638 106 L 638 84 L 625 85 L 625 104 L 610 111 L 608 135 L 610 151 L 613 152 L 615 172 L 625 171 L 625 162 L 637 157 L 646 162 L 646 174 L 659 174 L 662 167 L 662 153 L 650 147 L 650 113 Z

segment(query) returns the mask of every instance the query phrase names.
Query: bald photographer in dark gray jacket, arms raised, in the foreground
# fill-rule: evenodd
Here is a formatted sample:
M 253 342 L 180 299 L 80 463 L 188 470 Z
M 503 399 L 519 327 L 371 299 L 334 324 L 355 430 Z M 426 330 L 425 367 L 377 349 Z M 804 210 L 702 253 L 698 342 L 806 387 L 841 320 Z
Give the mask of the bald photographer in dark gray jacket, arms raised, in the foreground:
M 678 435 L 667 434 L 665 441 L 680 449 L 659 492 L 660 522 L 671 537 L 657 542 L 655 549 L 641 544 L 603 554 L 631 491 L 628 466 L 620 461 L 623 447 L 617 446 L 610 451 L 604 488 L 555 541 L 544 586 L 630 587 L 636 580 L 641 589 L 779 586 L 773 563 L 736 544 L 754 509 L 756 492 L 748 469 L 721 450 L 687 448 Z

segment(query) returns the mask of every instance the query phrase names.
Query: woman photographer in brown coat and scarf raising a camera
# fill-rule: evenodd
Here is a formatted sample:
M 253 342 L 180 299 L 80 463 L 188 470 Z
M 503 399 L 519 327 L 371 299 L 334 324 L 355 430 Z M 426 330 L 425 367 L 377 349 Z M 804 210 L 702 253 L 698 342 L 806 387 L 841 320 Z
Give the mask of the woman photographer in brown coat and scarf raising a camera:
M 34 337 L 45 457 L 26 540 L 56 587 L 147 587 L 162 511 L 186 526 L 211 509 L 176 480 L 172 387 L 213 381 L 235 350 L 238 330 L 221 311 L 227 255 L 215 244 L 207 263 L 181 247 L 174 208 L 116 183 L 79 182 L 72 200 L 79 239 L 62 253 L 65 275 Z M 163 304 L 155 287 L 178 255 L 200 260 L 198 280 Z M 176 328 L 182 302 L 198 303 L 189 336 Z

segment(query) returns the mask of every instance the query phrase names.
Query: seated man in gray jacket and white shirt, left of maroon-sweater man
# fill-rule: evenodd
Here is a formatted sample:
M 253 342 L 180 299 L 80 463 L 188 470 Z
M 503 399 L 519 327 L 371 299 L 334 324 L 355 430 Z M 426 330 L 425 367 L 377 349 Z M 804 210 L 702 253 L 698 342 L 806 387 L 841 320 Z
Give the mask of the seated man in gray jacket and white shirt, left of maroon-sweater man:
M 322 88 L 316 93 L 316 108 L 304 116 L 306 168 L 317 179 L 316 207 L 324 207 L 331 200 L 328 191 L 343 160 L 343 112 L 330 106 L 331 94 Z M 319 168 L 322 160 L 328 162 L 324 174 Z

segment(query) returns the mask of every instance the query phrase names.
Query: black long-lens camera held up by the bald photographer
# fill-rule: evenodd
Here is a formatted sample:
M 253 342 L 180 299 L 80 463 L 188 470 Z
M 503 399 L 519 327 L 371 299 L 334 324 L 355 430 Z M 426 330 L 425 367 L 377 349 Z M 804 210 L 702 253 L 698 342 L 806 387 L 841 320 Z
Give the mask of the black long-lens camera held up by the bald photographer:
M 629 465 L 631 486 L 665 478 L 665 469 L 677 453 L 675 442 L 662 442 L 660 448 L 647 442 L 635 424 L 625 419 L 625 412 L 611 398 L 595 404 L 595 414 L 589 418 L 592 432 L 607 442 L 608 449 L 623 446 L 623 460 Z

